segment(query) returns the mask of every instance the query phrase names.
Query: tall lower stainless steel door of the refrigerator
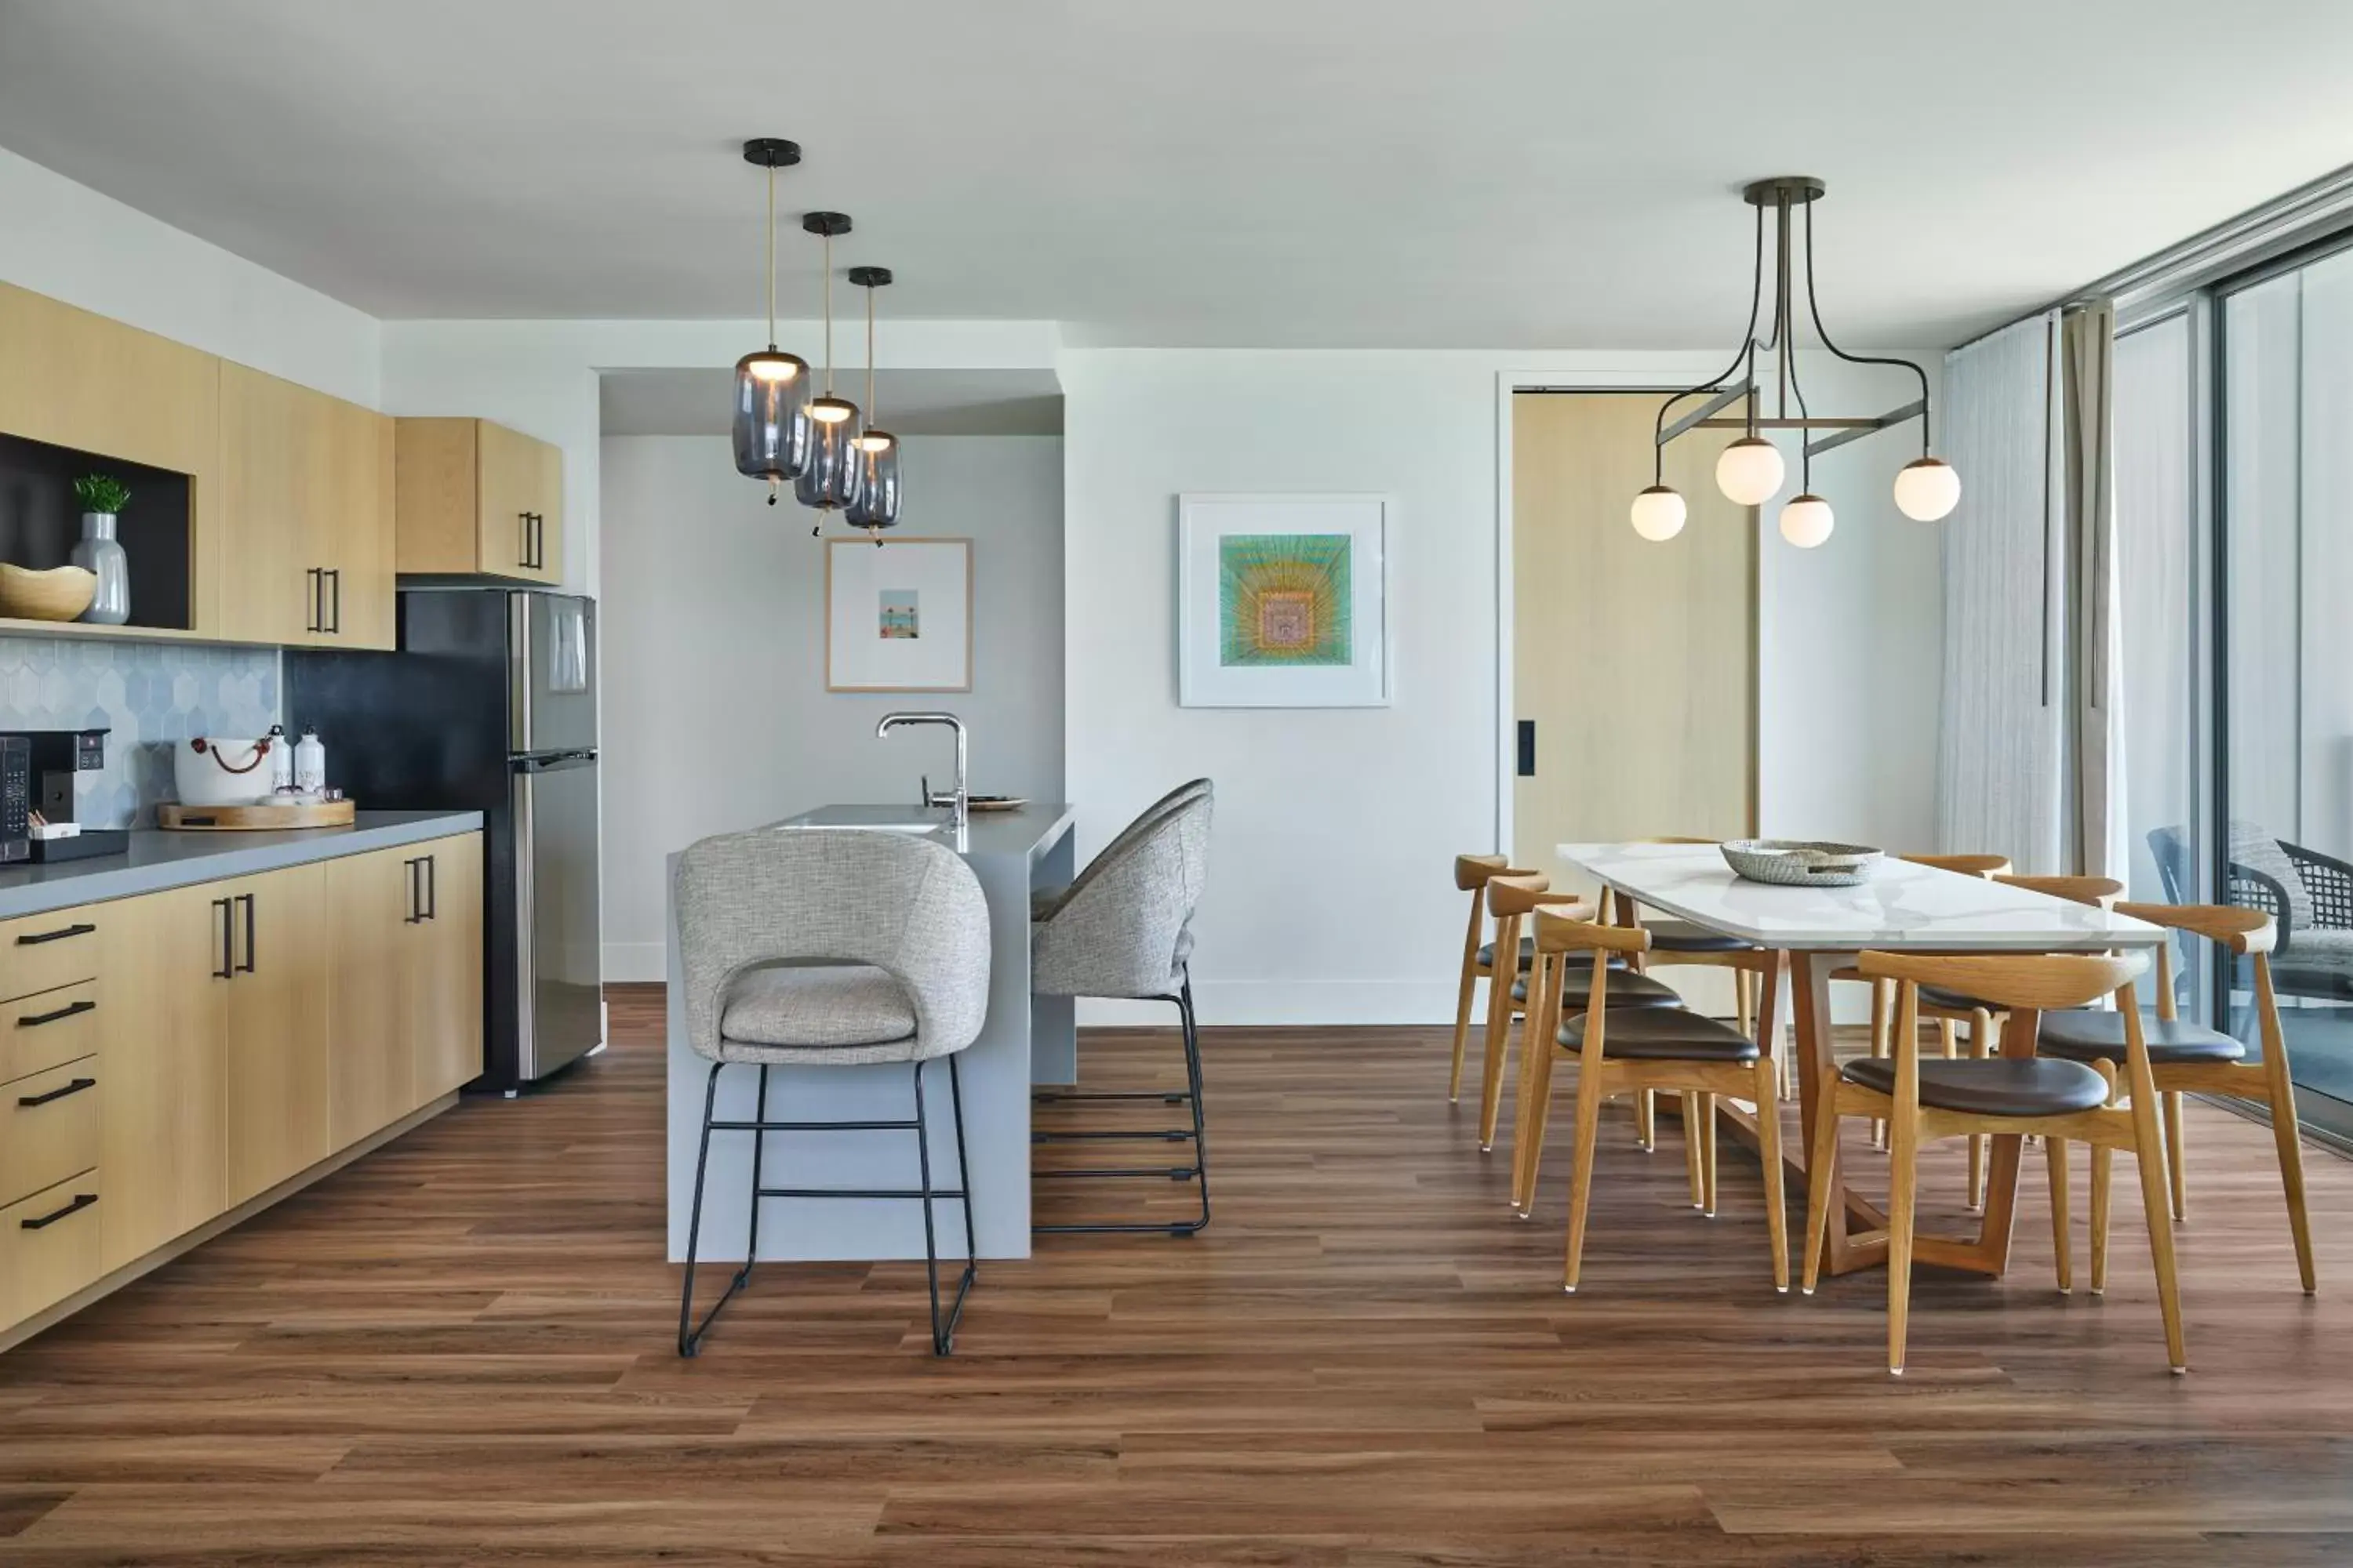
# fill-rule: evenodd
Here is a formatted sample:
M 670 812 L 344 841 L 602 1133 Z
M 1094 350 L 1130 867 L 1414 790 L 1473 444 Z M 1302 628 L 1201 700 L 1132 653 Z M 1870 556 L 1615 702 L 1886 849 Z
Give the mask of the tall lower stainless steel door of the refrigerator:
M 602 1039 L 598 769 L 593 757 L 515 766 L 515 1077 L 544 1079 Z

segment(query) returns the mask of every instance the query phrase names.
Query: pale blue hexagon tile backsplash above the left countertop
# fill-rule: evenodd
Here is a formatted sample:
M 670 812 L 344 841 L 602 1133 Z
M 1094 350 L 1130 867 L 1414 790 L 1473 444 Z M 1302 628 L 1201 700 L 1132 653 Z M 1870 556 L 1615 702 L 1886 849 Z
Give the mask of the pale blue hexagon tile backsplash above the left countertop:
M 111 729 L 85 773 L 87 827 L 153 827 L 172 792 L 172 743 L 264 736 L 278 724 L 278 649 L 0 637 L 0 729 Z

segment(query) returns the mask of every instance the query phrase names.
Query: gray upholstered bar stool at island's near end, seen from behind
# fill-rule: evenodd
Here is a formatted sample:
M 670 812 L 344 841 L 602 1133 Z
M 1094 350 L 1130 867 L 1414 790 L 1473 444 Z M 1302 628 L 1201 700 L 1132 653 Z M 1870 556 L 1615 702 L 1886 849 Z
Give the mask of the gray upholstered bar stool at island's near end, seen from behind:
M 932 1354 L 955 1347 L 965 1295 L 979 1276 L 972 1246 L 972 1175 L 965 1161 L 965 1086 L 955 1053 L 988 1016 L 988 905 L 981 884 L 944 844 L 899 832 L 729 832 L 687 849 L 678 863 L 678 952 L 687 983 L 687 1041 L 708 1058 L 704 1138 L 694 1157 L 687 1220 L 687 1279 L 678 1298 L 678 1354 L 751 1284 L 760 1255 L 762 1199 L 918 1199 L 925 1272 L 932 1286 Z M 948 1058 L 955 1119 L 955 1187 L 932 1185 L 932 1143 L 922 1067 Z M 720 1070 L 760 1070 L 751 1121 L 715 1121 Z M 772 1121 L 769 1067 L 908 1065 L 911 1121 Z M 769 1133 L 911 1131 L 918 1187 L 762 1187 Z M 711 1133 L 751 1133 L 751 1237 L 744 1267 L 694 1321 L 694 1251 L 704 1225 Z M 941 1314 L 939 1237 L 932 1204 L 955 1199 L 965 1215 L 965 1272 Z

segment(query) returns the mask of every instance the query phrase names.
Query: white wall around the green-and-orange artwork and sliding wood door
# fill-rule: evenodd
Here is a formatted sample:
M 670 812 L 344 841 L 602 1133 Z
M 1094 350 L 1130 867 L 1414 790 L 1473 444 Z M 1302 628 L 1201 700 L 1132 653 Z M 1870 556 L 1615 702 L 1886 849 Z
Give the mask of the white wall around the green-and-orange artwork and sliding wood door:
M 1447 863 L 1499 842 L 1504 390 L 1513 378 L 1687 383 L 1713 369 L 1694 355 L 1624 353 L 1064 355 L 1066 755 L 1080 851 L 1172 783 L 1217 778 L 1193 959 L 1205 1018 L 1452 1018 L 1461 907 Z M 1849 383 L 1842 367 L 1805 369 L 1817 404 L 1842 411 L 1911 397 L 1901 371 L 1857 369 Z M 1904 520 L 1887 489 L 1913 451 L 1882 435 L 1817 468 L 1842 520 L 1824 548 L 1798 552 L 1767 534 L 1765 832 L 1929 844 L 1941 557 L 1934 531 Z M 1174 498 L 1195 489 L 1398 501 L 1391 708 L 1176 708 Z

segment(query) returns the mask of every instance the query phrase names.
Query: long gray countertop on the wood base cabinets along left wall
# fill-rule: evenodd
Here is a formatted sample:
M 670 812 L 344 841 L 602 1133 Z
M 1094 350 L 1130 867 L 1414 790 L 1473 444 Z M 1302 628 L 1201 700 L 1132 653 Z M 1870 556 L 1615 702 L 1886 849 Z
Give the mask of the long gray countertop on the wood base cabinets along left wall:
M 49 914 L 78 903 L 162 893 L 221 877 L 252 877 L 369 849 L 424 844 L 482 825 L 480 811 L 360 811 L 351 827 L 285 832 L 165 832 L 139 827 L 129 851 L 56 865 L 0 870 L 0 919 Z

